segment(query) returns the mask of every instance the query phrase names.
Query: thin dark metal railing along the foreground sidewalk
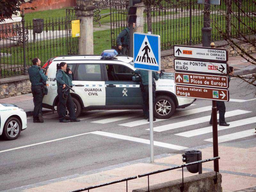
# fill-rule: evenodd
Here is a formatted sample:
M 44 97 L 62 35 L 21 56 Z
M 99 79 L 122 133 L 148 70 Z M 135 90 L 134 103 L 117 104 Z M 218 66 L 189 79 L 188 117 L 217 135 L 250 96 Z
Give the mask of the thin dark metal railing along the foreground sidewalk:
M 148 173 L 145 173 L 145 174 L 138 175 L 138 178 L 148 176 L 148 192 L 149 192 L 149 175 L 153 175 L 153 174 L 157 174 L 157 173 L 161 173 L 161 172 L 166 172 L 166 171 L 171 171 L 171 170 L 174 170 L 174 169 L 182 168 L 182 186 L 180 187 L 180 191 L 183 191 L 184 190 L 183 167 L 187 167 L 187 166 L 195 165 L 195 164 L 201 164 L 201 163 L 205 163 L 205 162 L 209 162 L 209 161 L 214 161 L 214 160 L 217 160 L 217 159 L 220 159 L 220 157 L 219 156 L 218 157 L 213 157 L 213 158 L 210 158 L 210 159 L 204 159 L 204 160 L 201 160 L 201 161 L 195 161 L 195 162 L 192 162 L 192 163 L 182 164 L 182 165 L 172 167 L 172 168 L 161 169 L 161 170 L 154 171 L 154 172 L 148 172 Z M 99 185 L 94 185 L 94 186 L 78 189 L 78 190 L 71 191 L 71 192 L 80 192 L 80 191 L 86 191 L 86 190 L 88 190 L 88 192 L 89 192 L 90 189 L 99 188 L 99 187 L 103 187 L 103 186 L 107 186 L 107 185 L 111 185 L 111 184 L 115 184 L 115 183 L 120 183 L 120 182 L 124 182 L 124 181 L 126 181 L 126 192 L 128 192 L 128 182 L 127 181 L 128 180 L 133 180 L 133 179 L 137 179 L 137 176 L 128 177 L 128 178 L 125 178 L 125 179 L 122 179 L 122 180 L 115 180 L 115 181 L 111 181 L 111 182 L 103 183 L 103 184 L 99 184 Z M 214 180 L 214 184 L 216 184 L 217 183 L 217 172 L 216 172 L 215 179 L 213 179 L 213 180 Z

